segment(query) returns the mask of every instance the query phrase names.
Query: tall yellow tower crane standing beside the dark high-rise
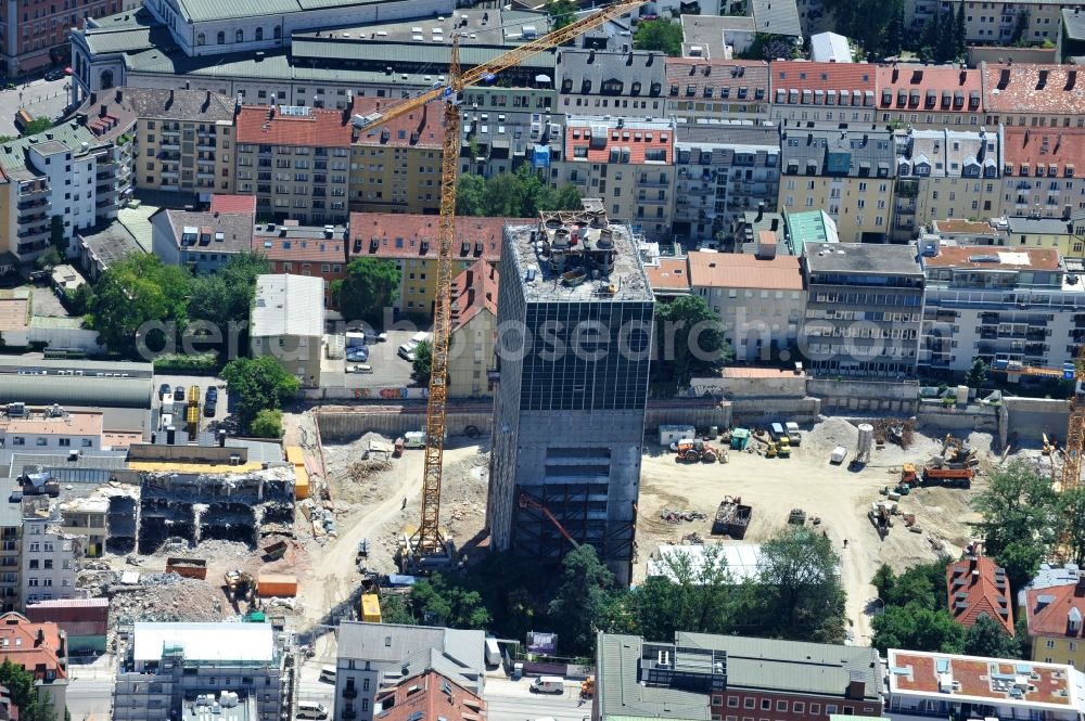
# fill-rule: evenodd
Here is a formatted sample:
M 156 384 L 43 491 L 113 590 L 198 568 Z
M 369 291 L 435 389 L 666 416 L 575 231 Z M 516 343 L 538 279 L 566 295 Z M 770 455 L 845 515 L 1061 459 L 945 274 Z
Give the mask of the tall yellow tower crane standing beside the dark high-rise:
M 424 570 L 427 558 L 450 561 L 439 527 L 441 464 L 445 451 L 445 413 L 448 397 L 448 342 L 451 331 L 450 291 L 452 247 L 456 241 L 456 171 L 460 152 L 460 111 L 458 94 L 480 81 L 494 79 L 498 73 L 515 67 L 524 60 L 579 37 L 603 23 L 639 8 L 646 0 L 623 0 L 586 15 L 570 25 L 525 42 L 494 60 L 460 72 L 459 36 L 452 38 L 448 85 L 422 92 L 363 116 L 356 125 L 365 132 L 393 118 L 421 108 L 435 100 L 445 101 L 443 125 L 445 139 L 441 167 L 441 219 L 437 224 L 437 285 L 433 308 L 433 343 L 430 365 L 430 396 L 425 409 L 425 460 L 422 476 L 422 519 L 418 530 L 400 548 L 400 563 Z

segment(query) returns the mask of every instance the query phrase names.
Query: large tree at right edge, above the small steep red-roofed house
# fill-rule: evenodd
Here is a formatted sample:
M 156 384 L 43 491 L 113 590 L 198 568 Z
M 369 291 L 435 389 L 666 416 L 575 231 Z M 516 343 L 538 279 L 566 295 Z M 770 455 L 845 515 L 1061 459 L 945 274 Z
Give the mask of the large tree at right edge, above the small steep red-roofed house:
M 991 474 L 972 507 L 983 516 L 972 525 L 986 553 L 1006 569 L 1010 588 L 1020 588 L 1058 538 L 1059 508 L 1051 484 L 1023 461 L 1013 461 Z

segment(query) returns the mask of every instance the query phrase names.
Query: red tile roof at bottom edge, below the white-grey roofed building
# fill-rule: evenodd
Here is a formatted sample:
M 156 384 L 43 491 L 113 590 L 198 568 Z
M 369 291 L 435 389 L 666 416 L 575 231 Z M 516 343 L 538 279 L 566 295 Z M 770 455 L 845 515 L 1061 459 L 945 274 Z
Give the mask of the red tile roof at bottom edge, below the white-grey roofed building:
M 394 703 L 388 701 L 394 699 Z M 437 671 L 404 679 L 376 698 L 386 709 L 381 721 L 436 719 L 446 721 L 482 721 L 486 701 Z

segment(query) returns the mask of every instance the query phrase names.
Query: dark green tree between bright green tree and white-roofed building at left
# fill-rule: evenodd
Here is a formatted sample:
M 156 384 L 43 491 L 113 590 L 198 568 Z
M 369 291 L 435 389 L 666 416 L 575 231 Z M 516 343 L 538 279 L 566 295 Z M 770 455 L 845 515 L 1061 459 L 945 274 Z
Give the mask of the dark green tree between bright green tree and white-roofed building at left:
M 271 272 L 267 258 L 255 253 L 239 253 L 215 274 L 192 280 L 189 318 L 214 324 L 227 337 L 231 321 L 248 318 L 256 297 L 256 279 Z M 247 344 L 239 344 L 245 347 Z

